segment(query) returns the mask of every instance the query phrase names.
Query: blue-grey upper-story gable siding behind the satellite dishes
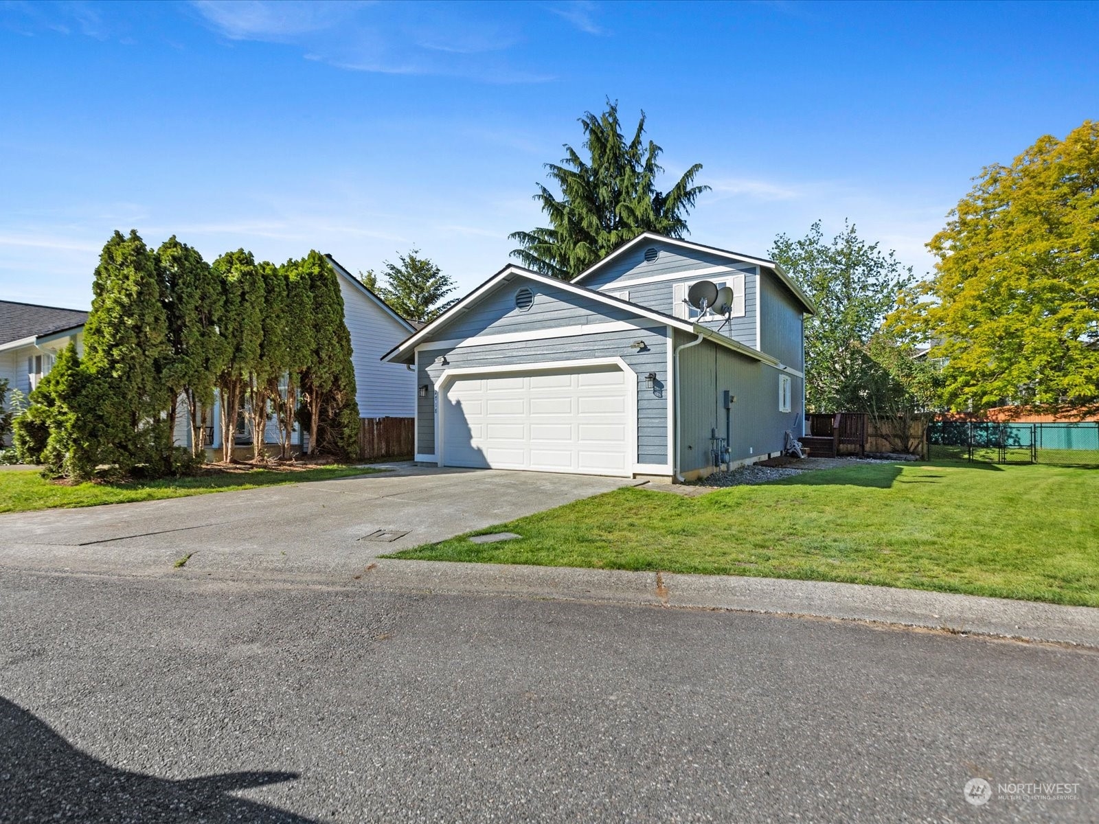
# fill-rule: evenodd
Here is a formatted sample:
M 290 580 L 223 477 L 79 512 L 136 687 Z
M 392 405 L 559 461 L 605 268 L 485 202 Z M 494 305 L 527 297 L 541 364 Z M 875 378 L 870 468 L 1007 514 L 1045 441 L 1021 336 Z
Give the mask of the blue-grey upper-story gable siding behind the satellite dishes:
M 656 260 L 645 260 L 645 249 L 656 248 Z M 706 275 L 691 274 L 699 269 L 720 266 L 725 271 Z M 682 272 L 682 278 L 675 275 Z M 758 267 L 751 264 L 740 264 L 719 255 L 703 252 L 685 250 L 669 244 L 653 243 L 631 250 L 624 258 L 619 258 L 597 269 L 584 279 L 581 286 L 601 292 L 629 290 L 630 302 L 665 314 L 675 314 L 674 293 L 676 283 L 693 283 L 697 280 L 728 279 L 730 275 L 744 275 L 744 315 L 732 318 L 726 323 L 723 318 L 711 318 L 702 322 L 714 332 L 720 332 L 753 349 L 758 348 L 756 341 L 756 277 Z M 636 283 L 632 281 L 653 277 L 669 277 L 655 283 Z

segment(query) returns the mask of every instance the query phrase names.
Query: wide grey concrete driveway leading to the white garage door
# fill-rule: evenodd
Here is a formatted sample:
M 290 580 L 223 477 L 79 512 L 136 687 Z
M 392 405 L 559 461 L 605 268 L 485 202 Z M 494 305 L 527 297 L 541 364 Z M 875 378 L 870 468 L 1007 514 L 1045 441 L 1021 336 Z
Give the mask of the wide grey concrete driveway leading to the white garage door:
M 0 566 L 163 575 L 191 553 L 192 574 L 354 572 L 377 555 L 636 482 L 397 465 L 360 478 L 12 513 L 0 515 Z M 368 538 L 379 531 L 388 534 Z

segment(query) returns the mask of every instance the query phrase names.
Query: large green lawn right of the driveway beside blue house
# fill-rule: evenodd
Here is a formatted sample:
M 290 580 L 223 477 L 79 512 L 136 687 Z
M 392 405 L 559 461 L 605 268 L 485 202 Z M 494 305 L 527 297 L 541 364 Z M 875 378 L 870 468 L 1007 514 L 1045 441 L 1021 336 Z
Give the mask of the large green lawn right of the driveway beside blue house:
M 681 498 L 620 489 L 398 553 L 850 581 L 1099 606 L 1099 469 L 856 465 Z

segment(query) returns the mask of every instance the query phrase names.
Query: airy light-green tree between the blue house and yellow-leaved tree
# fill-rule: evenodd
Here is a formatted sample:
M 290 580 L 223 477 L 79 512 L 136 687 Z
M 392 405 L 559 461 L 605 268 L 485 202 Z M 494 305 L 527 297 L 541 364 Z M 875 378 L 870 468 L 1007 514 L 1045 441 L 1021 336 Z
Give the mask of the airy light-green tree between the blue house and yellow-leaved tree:
M 867 411 L 865 347 L 911 285 L 911 267 L 863 241 L 854 225 L 825 241 L 820 221 L 800 240 L 778 235 L 770 256 L 817 303 L 806 319 L 807 411 Z

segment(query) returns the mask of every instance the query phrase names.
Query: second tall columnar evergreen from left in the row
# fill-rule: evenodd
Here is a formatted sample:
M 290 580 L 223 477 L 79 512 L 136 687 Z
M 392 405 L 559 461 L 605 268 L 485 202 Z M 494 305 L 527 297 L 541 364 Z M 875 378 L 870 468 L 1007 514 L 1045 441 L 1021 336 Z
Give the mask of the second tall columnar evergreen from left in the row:
M 218 332 L 224 294 L 218 276 L 198 250 L 173 235 L 156 252 L 157 280 L 168 329 L 169 352 L 160 375 L 170 394 L 168 431 L 176 431 L 179 398 L 186 399 L 191 454 L 206 447 L 206 421 L 213 385 L 224 366 L 225 342 Z

